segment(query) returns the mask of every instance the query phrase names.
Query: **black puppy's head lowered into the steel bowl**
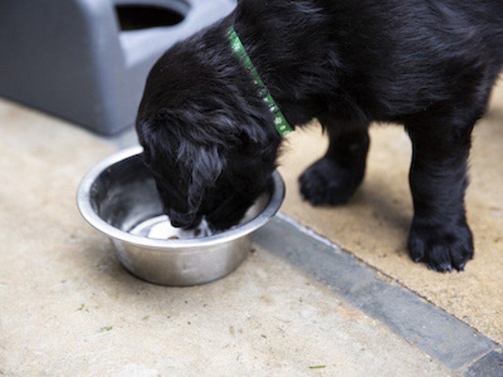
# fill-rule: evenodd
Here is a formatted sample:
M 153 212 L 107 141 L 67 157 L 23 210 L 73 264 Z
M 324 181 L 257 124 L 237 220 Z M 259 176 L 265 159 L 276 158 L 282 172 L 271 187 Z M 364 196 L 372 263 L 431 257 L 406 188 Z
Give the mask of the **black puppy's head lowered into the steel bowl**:
M 154 65 L 136 130 L 172 224 L 190 228 L 205 215 L 225 229 L 266 189 L 280 137 L 231 57 L 211 67 L 193 51 L 177 45 Z

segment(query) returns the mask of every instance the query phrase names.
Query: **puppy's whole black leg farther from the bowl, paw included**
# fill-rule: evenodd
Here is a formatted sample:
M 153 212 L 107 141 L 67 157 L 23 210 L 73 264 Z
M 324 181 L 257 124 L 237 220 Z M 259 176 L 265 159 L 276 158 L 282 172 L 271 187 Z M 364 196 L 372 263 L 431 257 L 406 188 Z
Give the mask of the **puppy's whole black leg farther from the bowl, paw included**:
M 407 242 L 410 256 L 436 271 L 461 271 L 473 257 L 464 205 L 472 126 L 408 126 L 407 130 L 413 148 L 409 182 L 414 217 Z

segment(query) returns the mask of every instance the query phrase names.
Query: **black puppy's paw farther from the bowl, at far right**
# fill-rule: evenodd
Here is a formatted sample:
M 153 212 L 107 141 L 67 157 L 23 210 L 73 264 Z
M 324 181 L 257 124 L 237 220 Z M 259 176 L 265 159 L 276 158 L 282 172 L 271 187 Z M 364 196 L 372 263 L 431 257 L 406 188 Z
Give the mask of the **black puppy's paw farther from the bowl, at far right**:
M 413 222 L 408 250 L 415 262 L 424 262 L 435 271 L 462 271 L 473 257 L 473 237 L 465 222 L 456 225 L 431 225 Z

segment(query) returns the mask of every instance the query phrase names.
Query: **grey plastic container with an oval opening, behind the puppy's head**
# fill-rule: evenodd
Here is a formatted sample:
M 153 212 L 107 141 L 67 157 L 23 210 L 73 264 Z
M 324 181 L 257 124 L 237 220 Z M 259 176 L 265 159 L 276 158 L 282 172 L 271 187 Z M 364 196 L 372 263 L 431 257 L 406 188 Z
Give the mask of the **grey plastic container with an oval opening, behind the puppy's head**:
M 146 76 L 159 56 L 235 5 L 236 0 L 0 1 L 0 96 L 116 134 L 134 123 Z

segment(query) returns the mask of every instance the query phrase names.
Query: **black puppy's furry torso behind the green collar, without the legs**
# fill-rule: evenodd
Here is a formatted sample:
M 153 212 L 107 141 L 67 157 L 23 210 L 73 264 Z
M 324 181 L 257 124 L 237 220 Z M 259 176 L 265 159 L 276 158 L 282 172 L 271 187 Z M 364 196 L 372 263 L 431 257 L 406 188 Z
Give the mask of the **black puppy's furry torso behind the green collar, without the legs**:
M 267 36 L 249 52 L 270 86 L 306 105 L 338 93 L 341 113 L 367 120 L 403 123 L 474 85 L 485 92 L 503 65 L 501 0 L 241 0 L 236 18 Z M 293 123 L 309 118 L 289 110 Z

